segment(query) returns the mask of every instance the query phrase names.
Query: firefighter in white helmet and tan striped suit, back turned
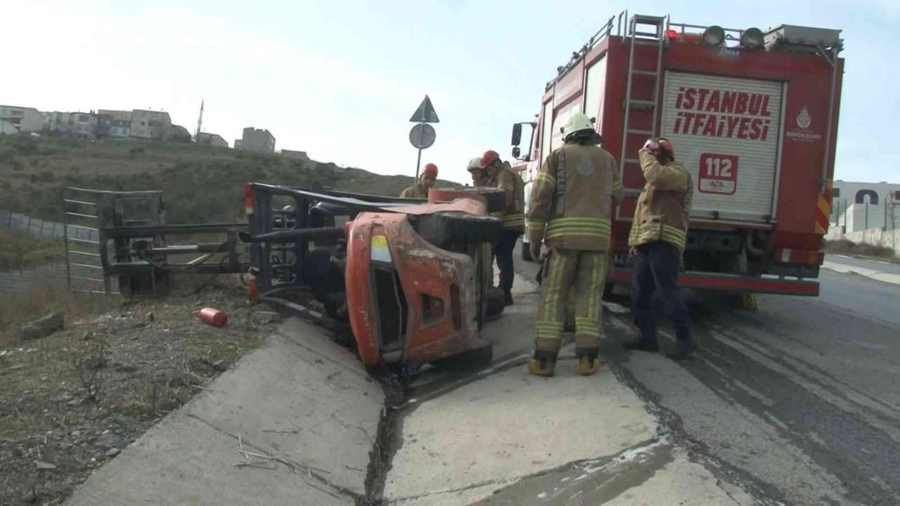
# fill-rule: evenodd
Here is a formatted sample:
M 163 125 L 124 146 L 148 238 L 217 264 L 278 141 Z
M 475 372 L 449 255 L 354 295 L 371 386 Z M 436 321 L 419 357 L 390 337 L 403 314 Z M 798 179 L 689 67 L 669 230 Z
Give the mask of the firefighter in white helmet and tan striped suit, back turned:
M 544 161 L 531 191 L 528 238 L 539 258 L 550 248 L 535 322 L 533 375 L 552 376 L 569 293 L 574 289 L 575 353 L 581 375 L 599 367 L 600 300 L 606 284 L 610 212 L 622 199 L 616 159 L 599 148 L 599 135 L 583 113 L 563 128 L 565 145 Z

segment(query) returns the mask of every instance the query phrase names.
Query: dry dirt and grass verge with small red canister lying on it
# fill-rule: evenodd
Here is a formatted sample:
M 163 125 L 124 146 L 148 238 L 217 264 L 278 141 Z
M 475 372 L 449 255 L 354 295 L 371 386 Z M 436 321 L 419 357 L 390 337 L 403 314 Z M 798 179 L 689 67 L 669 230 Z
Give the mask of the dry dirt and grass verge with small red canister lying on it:
M 199 321 L 204 306 L 227 312 L 228 324 Z M 44 339 L 0 342 L 0 506 L 64 501 L 256 348 L 275 323 L 261 318 L 266 309 L 215 284 L 66 321 Z

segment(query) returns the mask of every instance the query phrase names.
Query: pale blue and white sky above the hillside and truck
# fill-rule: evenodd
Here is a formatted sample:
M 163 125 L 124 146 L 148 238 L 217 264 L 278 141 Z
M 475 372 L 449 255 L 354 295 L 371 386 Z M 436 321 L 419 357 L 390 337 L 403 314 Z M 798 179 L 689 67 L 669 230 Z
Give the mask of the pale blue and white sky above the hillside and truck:
M 229 143 L 267 128 L 277 149 L 383 174 L 412 174 L 410 114 L 431 96 L 441 122 L 423 154 L 466 181 L 469 158 L 509 154 L 545 82 L 609 16 L 781 23 L 843 30 L 847 59 L 836 178 L 900 181 L 900 2 L 382 1 L 0 3 L 0 104 L 40 110 L 163 109 Z M 891 157 L 895 158 L 895 157 Z

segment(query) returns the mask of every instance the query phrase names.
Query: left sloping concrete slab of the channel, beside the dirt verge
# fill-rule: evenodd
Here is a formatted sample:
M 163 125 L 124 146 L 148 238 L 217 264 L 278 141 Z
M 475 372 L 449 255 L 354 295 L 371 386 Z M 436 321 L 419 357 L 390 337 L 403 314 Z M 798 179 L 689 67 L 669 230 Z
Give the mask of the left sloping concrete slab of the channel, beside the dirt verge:
M 353 354 L 289 319 L 67 504 L 352 505 L 365 495 L 383 404 Z M 236 466 L 248 462 L 241 446 L 268 468 Z

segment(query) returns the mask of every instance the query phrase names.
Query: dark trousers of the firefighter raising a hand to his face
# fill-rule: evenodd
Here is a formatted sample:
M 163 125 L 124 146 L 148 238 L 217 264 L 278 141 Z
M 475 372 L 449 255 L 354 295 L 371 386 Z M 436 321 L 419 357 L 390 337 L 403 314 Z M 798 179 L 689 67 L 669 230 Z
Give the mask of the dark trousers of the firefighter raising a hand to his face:
M 641 339 L 656 342 L 653 294 L 657 294 L 663 310 L 675 324 L 676 339 L 691 341 L 688 304 L 676 283 L 680 264 L 680 251 L 668 242 L 657 241 L 637 247 L 631 278 L 631 311 L 635 315 L 635 325 L 641 330 Z

